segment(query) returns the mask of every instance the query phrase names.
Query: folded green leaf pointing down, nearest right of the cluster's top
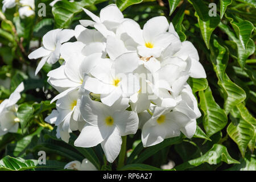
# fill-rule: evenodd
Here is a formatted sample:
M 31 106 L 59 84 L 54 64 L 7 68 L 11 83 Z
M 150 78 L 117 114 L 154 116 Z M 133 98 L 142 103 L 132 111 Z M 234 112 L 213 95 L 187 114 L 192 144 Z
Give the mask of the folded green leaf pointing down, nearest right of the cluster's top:
M 195 13 L 195 16 L 197 17 L 204 42 L 205 42 L 207 48 L 209 49 L 210 48 L 210 36 L 212 35 L 212 32 L 215 30 L 215 28 L 220 23 L 220 16 L 219 15 L 212 16 L 207 20 L 201 19 L 200 16 L 197 15 L 197 13 Z

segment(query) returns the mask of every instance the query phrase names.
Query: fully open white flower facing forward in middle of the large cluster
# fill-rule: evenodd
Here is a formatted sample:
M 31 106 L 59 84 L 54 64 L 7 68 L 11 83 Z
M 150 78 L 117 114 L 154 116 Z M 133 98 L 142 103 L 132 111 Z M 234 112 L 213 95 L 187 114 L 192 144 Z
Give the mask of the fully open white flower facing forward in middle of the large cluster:
M 139 80 L 133 74 L 138 67 L 137 53 L 124 53 L 117 59 L 105 59 L 86 76 L 84 88 L 101 94 L 103 104 L 112 106 L 120 97 L 129 97 L 139 91 Z

